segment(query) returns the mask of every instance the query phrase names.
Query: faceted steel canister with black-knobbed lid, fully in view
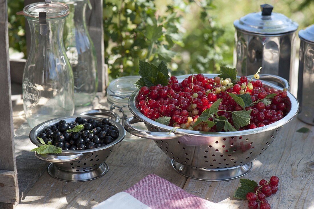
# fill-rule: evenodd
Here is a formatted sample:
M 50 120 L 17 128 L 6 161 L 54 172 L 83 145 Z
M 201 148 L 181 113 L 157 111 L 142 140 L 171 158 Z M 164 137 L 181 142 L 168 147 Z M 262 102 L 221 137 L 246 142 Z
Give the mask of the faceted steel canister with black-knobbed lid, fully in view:
M 283 14 L 272 12 L 272 5 L 260 7 L 262 12 L 247 14 L 233 22 L 236 28 L 234 66 L 239 75 L 255 74 L 262 67 L 263 74 L 290 80 L 298 24 Z

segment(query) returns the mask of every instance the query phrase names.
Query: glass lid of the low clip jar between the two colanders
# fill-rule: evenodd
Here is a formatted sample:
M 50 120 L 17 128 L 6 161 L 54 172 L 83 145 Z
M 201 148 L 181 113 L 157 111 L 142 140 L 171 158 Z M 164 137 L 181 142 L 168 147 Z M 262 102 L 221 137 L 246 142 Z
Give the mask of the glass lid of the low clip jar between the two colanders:
M 137 90 L 135 82 L 141 76 L 125 76 L 111 81 L 107 88 L 108 102 L 122 107 L 127 105 L 127 101 L 131 94 Z

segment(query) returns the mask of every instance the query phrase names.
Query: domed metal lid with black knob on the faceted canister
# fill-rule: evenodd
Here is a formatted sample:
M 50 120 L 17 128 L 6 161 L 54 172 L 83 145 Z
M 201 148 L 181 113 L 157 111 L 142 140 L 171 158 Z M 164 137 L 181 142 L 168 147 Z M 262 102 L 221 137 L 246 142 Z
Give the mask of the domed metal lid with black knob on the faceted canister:
M 283 14 L 272 12 L 273 6 L 263 4 L 262 12 L 250 13 L 233 22 L 236 29 L 257 34 L 282 34 L 298 29 L 298 24 Z

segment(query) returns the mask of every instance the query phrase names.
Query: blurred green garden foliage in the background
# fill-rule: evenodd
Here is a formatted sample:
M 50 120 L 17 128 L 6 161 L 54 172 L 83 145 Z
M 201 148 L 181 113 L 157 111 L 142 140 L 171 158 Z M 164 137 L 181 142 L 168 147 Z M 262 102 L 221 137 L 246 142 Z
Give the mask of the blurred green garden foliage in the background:
M 138 61 L 168 63 L 171 73 L 216 73 L 232 66 L 233 21 L 269 3 L 299 23 L 314 22 L 311 0 L 104 0 L 105 62 L 110 79 L 138 74 Z M 24 52 L 23 0 L 8 1 L 10 49 Z M 298 40 L 298 39 L 297 39 Z M 299 41 L 299 40 L 298 40 Z M 299 42 L 296 43 L 297 51 Z

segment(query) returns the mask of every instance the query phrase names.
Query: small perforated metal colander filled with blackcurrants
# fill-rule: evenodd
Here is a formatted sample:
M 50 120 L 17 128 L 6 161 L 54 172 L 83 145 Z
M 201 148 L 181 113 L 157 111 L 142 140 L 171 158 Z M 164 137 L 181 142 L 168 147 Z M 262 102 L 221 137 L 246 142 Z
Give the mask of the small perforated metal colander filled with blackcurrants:
M 82 115 L 83 114 L 83 115 Z M 119 131 L 119 136 L 116 140 L 95 149 L 88 150 L 62 150 L 60 154 L 37 154 L 38 159 L 50 162 L 48 173 L 59 180 L 63 181 L 88 181 L 96 179 L 107 173 L 109 167 L 105 163 L 106 159 L 111 154 L 113 147 L 120 143 L 126 132 L 120 122 L 120 117 L 109 110 L 91 110 L 82 113 L 81 115 L 66 116 L 48 120 L 35 126 L 30 131 L 30 140 L 36 146 L 41 146 L 41 143 L 36 139 L 37 135 L 42 133 L 44 129 L 58 123 L 60 120 L 65 120 L 67 123 L 75 121 L 75 118 L 82 117 L 83 119 L 92 118 L 101 122 L 103 118 L 95 117 L 94 115 L 106 115 L 112 119 L 110 125 L 114 126 Z

